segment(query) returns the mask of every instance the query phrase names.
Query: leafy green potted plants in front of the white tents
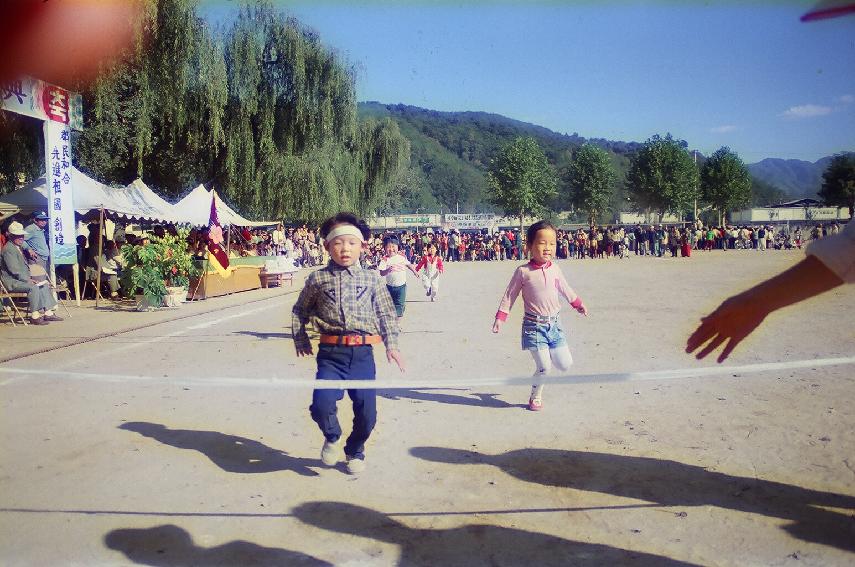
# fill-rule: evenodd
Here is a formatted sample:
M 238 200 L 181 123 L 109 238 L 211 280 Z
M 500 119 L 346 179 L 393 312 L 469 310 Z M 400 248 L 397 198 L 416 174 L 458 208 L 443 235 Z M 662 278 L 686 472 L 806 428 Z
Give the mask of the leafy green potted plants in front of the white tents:
M 160 306 L 169 294 L 167 287 L 188 287 L 199 268 L 187 250 L 189 230 L 177 235 L 151 237 L 144 244 L 122 247 L 125 269 L 122 287 L 131 294 L 141 293 L 149 305 Z

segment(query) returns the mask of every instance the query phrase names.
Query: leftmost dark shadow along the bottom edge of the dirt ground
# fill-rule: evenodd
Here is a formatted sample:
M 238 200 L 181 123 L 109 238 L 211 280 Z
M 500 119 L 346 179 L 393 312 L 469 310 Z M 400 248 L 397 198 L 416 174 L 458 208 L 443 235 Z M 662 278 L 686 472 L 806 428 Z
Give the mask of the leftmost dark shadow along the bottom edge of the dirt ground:
M 186 530 L 172 524 L 145 529 L 113 530 L 104 544 L 134 563 L 163 567 L 191 565 L 305 565 L 331 566 L 311 555 L 263 547 L 248 541 L 230 541 L 216 547 L 199 547 Z

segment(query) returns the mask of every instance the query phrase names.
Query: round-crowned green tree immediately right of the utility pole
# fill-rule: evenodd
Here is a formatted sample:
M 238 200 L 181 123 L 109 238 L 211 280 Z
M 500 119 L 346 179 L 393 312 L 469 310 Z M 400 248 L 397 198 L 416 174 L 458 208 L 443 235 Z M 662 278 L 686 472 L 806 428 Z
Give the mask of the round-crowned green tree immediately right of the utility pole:
M 744 207 L 751 200 L 751 175 L 736 153 L 722 147 L 701 168 L 701 196 L 718 211 L 721 226 L 727 211 Z

